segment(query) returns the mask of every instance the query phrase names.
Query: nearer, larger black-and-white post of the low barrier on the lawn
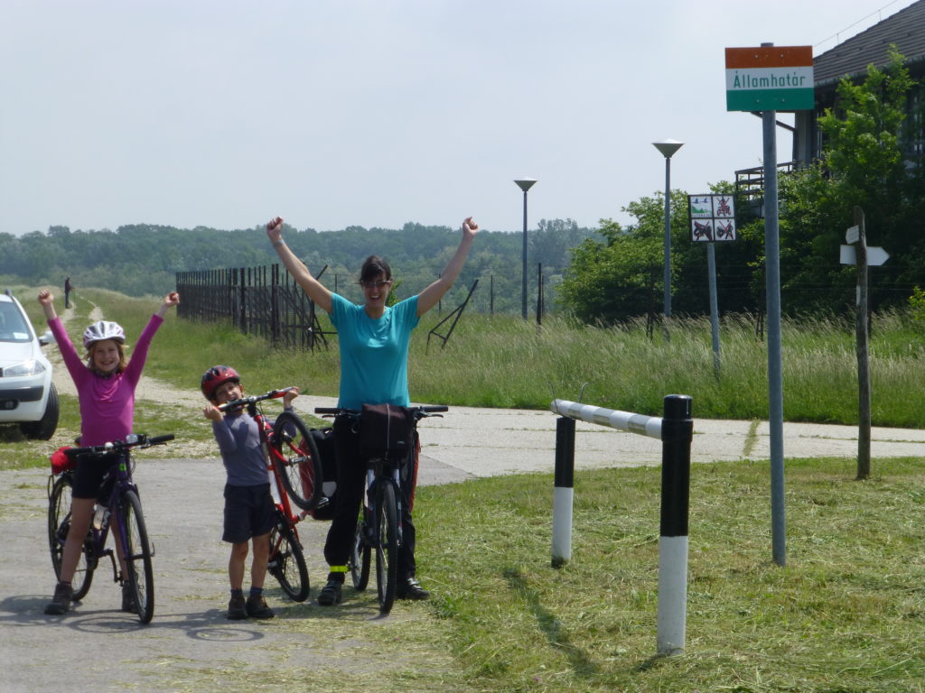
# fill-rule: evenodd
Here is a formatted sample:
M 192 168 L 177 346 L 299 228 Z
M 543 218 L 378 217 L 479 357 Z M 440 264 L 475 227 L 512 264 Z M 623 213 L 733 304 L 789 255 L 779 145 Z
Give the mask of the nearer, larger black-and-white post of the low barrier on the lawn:
M 691 398 L 667 395 L 661 423 L 658 652 L 685 649 L 687 615 L 687 510 L 690 498 Z

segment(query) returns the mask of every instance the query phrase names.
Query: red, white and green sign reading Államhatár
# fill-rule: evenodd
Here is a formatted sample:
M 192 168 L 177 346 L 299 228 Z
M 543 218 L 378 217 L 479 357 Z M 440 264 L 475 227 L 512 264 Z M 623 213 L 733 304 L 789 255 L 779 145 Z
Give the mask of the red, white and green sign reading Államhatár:
M 727 111 L 815 108 L 812 46 L 726 49 Z

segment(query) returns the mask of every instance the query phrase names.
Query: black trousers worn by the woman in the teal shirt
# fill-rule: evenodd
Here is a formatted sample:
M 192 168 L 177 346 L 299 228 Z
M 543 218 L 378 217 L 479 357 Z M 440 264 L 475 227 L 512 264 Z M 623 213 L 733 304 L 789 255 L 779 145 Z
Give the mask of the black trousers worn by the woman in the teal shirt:
M 349 417 L 334 419 L 334 450 L 338 460 L 338 490 L 334 504 L 334 517 L 327 530 L 325 560 L 327 565 L 347 565 L 357 518 L 366 487 L 366 462 L 360 455 L 360 435 L 353 431 Z M 416 447 L 416 445 L 415 445 Z M 411 517 L 414 493 L 414 459 L 408 461 L 401 474 L 401 547 L 399 548 L 398 578 L 404 582 L 413 577 L 415 531 Z

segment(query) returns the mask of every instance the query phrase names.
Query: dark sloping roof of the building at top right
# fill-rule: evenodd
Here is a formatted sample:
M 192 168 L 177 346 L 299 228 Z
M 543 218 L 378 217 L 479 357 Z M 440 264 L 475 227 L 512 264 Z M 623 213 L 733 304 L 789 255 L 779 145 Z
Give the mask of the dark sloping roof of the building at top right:
M 909 62 L 925 59 L 925 0 L 901 9 L 870 29 L 817 55 L 813 59 L 816 86 L 866 74 L 870 64 L 883 67 L 889 62 L 887 49 L 891 43 Z

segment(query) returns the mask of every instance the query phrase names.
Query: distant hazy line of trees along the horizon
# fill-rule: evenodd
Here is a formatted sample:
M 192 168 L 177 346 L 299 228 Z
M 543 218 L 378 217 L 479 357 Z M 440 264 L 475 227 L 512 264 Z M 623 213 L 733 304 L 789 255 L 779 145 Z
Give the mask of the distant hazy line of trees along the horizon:
M 401 229 L 348 226 L 331 232 L 285 227 L 290 248 L 314 274 L 324 271 L 326 285 L 348 298 L 359 298 L 357 274 L 366 257 L 374 253 L 391 264 L 398 296 L 420 291 L 446 266 L 459 245 L 460 233 L 449 226 L 414 223 Z M 544 219 L 529 230 L 531 305 L 538 291 L 537 266 L 543 266 L 546 306 L 554 309 L 555 287 L 568 265 L 570 250 L 592 237 L 597 237 L 594 229 L 580 228 L 571 219 Z M 444 303 L 461 302 L 477 279 L 479 286 L 470 304 L 473 310 L 518 312 L 522 253 L 521 233 L 482 231 Z M 138 224 L 119 226 L 115 231 L 84 231 L 56 225 L 20 237 L 0 233 L 0 276 L 8 282 L 61 286 L 69 276 L 78 291 L 81 286 L 102 286 L 129 296 L 157 295 L 175 285 L 178 272 L 266 266 L 277 261 L 262 226 L 226 231 Z

